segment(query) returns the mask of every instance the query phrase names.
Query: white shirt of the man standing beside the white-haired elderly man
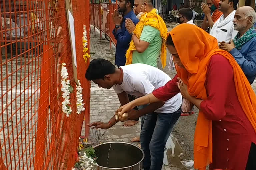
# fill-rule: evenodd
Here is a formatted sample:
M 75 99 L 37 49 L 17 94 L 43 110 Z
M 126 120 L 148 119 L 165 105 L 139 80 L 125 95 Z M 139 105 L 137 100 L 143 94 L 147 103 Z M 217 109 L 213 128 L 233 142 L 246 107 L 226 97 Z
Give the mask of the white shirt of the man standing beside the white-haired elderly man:
M 226 18 L 224 15 L 213 24 L 210 31 L 210 35 L 215 37 L 218 42 L 225 41 L 229 43 L 231 39 L 234 39 L 238 31 L 234 30 L 233 19 L 236 10 L 232 11 Z

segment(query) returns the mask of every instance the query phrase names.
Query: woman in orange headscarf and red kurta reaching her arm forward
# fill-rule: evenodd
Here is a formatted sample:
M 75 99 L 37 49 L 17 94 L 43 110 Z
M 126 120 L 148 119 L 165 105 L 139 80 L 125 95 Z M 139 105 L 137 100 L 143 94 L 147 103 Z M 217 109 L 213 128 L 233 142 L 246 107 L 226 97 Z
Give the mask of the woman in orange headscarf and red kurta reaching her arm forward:
M 169 32 L 167 47 L 178 74 L 152 94 L 119 108 L 131 108 L 181 92 L 199 108 L 194 136 L 194 167 L 255 170 L 256 96 L 242 69 L 217 40 L 191 24 Z M 120 116 L 119 115 L 119 116 Z

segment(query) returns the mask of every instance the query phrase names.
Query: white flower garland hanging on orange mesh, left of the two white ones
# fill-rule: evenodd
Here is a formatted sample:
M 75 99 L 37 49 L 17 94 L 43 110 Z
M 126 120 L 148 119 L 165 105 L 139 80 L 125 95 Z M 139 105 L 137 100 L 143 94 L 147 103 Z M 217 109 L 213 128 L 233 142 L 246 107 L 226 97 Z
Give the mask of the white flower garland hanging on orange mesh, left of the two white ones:
M 64 99 L 64 101 L 62 102 L 62 111 L 66 114 L 67 117 L 69 117 L 69 115 L 71 114 L 72 112 L 72 109 L 71 107 L 69 106 L 70 104 L 70 80 L 68 80 L 67 78 L 68 77 L 68 70 L 67 70 L 67 67 L 66 66 L 66 63 L 62 63 L 62 69 L 61 69 L 61 76 L 62 76 L 62 80 L 61 80 L 61 84 L 62 84 L 62 87 L 61 87 L 61 91 L 63 92 L 62 93 L 62 98 Z

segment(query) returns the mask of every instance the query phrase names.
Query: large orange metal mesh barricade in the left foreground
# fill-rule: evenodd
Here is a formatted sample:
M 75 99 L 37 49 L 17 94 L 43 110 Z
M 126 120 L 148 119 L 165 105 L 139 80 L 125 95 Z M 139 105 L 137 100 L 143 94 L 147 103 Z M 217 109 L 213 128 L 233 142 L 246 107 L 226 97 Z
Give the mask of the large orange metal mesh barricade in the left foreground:
M 0 0 L 0 10 L 0 170 L 70 170 L 83 120 L 89 123 L 88 63 L 82 57 L 83 25 L 90 47 L 89 0 L 72 0 L 86 108 L 79 115 L 65 0 Z M 69 117 L 62 112 L 64 62 L 74 89 Z M 88 128 L 83 135 L 89 136 Z

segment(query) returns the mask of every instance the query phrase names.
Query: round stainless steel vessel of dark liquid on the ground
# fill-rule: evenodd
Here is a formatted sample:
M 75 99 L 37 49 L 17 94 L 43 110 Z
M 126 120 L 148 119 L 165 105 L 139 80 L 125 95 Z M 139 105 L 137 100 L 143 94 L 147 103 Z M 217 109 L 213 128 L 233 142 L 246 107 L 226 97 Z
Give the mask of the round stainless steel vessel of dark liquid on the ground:
M 99 156 L 95 170 L 142 170 L 144 152 L 127 142 L 106 142 L 93 147 Z

